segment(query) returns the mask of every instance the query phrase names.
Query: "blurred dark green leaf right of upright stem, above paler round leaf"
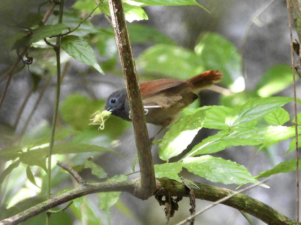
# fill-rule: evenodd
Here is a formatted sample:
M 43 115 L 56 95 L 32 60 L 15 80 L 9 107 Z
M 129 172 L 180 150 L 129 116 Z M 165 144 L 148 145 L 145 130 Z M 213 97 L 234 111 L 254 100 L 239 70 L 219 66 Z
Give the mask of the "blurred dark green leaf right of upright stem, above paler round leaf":
M 132 44 L 175 44 L 172 39 L 150 26 L 142 24 L 129 24 L 128 31 Z

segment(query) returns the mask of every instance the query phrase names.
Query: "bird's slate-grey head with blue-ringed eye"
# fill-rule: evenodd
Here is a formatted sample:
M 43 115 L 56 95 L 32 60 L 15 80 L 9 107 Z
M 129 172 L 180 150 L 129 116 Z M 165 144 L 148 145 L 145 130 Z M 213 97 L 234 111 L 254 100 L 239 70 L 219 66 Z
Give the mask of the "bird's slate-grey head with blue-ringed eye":
M 104 104 L 104 109 L 112 112 L 115 116 L 131 121 L 129 118 L 129 101 L 126 96 L 126 88 L 113 92 L 107 98 L 106 103 Z

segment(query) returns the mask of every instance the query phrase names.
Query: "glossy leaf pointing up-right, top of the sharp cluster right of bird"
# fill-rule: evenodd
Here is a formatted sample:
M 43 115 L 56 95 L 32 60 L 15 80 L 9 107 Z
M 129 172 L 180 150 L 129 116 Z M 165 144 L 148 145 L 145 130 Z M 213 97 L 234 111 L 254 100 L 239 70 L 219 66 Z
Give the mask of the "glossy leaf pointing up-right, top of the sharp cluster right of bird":
M 266 114 L 292 101 L 288 97 L 255 98 L 242 106 L 235 107 L 231 116 L 226 118 L 229 128 L 257 120 Z

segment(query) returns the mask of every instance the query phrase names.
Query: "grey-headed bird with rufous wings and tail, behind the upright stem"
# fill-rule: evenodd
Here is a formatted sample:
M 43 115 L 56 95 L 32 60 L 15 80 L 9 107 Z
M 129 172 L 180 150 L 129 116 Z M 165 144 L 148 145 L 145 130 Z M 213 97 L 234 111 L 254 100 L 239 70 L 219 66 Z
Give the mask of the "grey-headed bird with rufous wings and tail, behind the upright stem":
M 222 77 L 219 70 L 207 70 L 186 81 L 157 79 L 140 83 L 146 122 L 161 126 L 159 134 L 198 98 L 201 89 L 220 82 Z M 105 101 L 104 108 L 114 116 L 132 121 L 126 88 L 113 92 Z

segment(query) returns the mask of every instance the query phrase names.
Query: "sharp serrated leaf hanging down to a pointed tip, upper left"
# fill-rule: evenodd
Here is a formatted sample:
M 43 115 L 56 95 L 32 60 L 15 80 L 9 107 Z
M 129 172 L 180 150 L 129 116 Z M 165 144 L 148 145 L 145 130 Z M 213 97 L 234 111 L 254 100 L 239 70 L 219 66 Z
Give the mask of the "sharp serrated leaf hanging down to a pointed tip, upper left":
M 77 61 L 93 66 L 100 73 L 104 74 L 104 71 L 102 71 L 96 61 L 92 47 L 82 38 L 74 35 L 64 36 L 61 38 L 61 47 Z

